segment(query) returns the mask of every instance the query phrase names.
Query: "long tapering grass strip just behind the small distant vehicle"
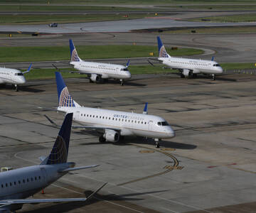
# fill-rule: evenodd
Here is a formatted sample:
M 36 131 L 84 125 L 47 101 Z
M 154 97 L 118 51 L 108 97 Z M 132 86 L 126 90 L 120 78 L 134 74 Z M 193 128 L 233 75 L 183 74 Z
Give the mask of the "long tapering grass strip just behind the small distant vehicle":
M 114 21 L 122 19 L 135 19 L 155 16 L 151 14 L 87 14 L 87 15 L 1 15 L 0 24 L 46 24 L 46 23 L 80 23 L 89 21 Z

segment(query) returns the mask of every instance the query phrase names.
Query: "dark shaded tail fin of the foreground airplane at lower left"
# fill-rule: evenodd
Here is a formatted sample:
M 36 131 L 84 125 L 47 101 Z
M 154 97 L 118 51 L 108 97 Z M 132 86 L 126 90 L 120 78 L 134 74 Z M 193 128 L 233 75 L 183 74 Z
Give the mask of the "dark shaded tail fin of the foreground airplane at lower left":
M 70 141 L 70 130 L 72 126 L 73 113 L 65 116 L 53 149 L 48 156 L 46 164 L 66 163 L 68 160 L 68 147 Z

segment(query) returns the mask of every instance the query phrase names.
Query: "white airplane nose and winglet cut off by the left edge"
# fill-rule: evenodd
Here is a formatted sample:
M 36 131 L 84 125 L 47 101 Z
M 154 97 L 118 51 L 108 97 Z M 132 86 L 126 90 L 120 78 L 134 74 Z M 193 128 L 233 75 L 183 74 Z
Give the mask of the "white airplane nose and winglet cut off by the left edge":
M 16 92 L 18 92 L 18 85 L 25 84 L 26 79 L 24 74 L 31 70 L 31 65 L 29 65 L 28 70 L 21 72 L 20 70 L 0 67 L 0 84 L 14 84 Z

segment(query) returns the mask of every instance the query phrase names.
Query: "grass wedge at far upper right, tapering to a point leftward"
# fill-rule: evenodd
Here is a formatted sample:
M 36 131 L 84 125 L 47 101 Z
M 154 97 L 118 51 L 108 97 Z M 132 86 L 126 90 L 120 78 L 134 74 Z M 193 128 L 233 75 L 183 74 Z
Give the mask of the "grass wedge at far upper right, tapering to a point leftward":
M 202 21 L 202 19 L 210 20 L 210 22 L 252 22 L 256 21 L 256 14 L 250 13 L 232 16 L 210 16 L 205 18 L 192 18 L 189 19 L 189 21 Z

